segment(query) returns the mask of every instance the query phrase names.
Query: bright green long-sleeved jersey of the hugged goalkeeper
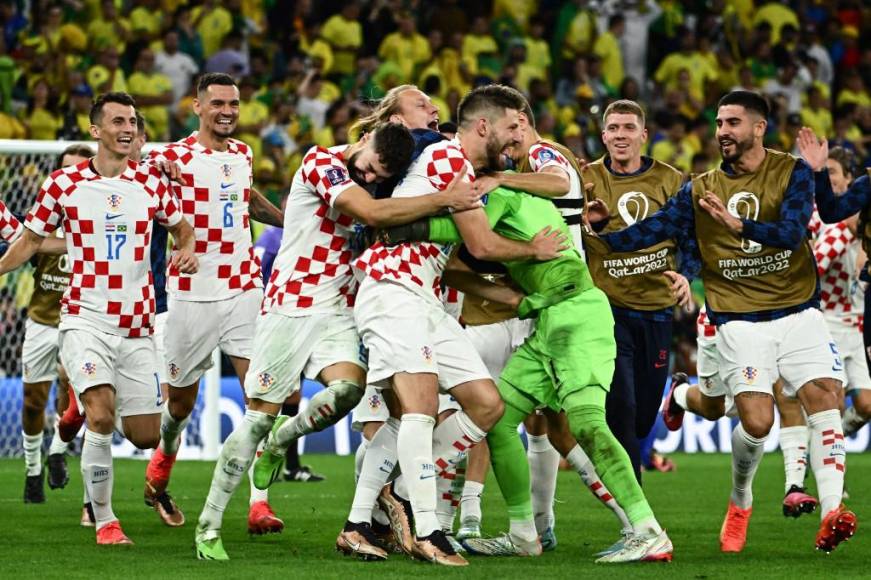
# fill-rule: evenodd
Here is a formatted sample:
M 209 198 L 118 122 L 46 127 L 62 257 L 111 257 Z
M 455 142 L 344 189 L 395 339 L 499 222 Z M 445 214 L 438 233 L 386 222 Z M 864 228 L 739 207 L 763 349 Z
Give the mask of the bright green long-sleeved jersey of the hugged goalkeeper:
M 549 226 L 572 239 L 559 211 L 547 199 L 498 187 L 485 197 L 484 203 L 490 227 L 506 238 L 529 241 Z M 430 218 L 429 229 L 430 241 L 462 241 L 449 216 Z M 518 309 L 521 318 L 529 318 L 542 308 L 594 287 L 587 264 L 574 246 L 547 262 L 524 260 L 504 264 L 511 279 L 527 294 Z

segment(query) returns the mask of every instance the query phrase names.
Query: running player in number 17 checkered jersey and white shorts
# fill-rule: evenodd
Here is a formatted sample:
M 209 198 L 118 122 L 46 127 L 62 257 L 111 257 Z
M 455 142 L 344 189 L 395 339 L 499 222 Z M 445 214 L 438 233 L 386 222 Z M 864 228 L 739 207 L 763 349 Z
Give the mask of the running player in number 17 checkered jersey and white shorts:
M 45 180 L 27 216 L 28 230 L 0 260 L 0 273 L 20 266 L 63 220 L 73 276 L 61 304 L 61 360 L 88 421 L 82 469 L 98 544 L 131 543 L 111 503 L 116 404 L 134 445 L 154 447 L 159 437 L 154 289 L 145 258 L 152 218 L 167 226 L 179 247 L 172 265 L 189 273 L 197 268 L 193 230 L 168 180 L 157 167 L 128 159 L 136 137 L 134 106 L 126 93 L 95 101 L 90 131 L 99 141 L 97 155 Z

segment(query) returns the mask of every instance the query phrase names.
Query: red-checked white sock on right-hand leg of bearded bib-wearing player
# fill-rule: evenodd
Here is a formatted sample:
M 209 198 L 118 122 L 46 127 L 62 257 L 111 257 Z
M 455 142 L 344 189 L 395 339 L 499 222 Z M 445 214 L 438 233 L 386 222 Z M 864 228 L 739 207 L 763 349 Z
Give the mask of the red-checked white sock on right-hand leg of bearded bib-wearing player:
M 841 414 L 837 409 L 808 415 L 811 432 L 811 468 L 820 495 L 820 516 L 823 518 L 841 505 L 844 493 L 846 450 L 841 430 Z

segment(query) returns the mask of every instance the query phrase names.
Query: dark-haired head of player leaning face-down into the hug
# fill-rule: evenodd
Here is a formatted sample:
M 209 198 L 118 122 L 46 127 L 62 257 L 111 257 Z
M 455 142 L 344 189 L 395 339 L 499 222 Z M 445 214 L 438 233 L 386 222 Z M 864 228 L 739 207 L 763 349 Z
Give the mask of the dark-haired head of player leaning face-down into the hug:
M 348 173 L 360 185 L 378 183 L 405 173 L 411 164 L 414 138 L 399 123 L 385 123 L 351 146 Z

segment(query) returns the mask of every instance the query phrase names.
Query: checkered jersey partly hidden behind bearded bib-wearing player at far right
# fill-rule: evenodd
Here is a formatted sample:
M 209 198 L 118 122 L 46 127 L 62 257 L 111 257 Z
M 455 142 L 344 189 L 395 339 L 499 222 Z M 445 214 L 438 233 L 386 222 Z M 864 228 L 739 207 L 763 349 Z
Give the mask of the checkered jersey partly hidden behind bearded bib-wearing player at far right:
M 814 242 L 823 314 L 856 326 L 864 304 L 856 264 L 859 249 L 859 239 L 845 222 L 824 225 Z

